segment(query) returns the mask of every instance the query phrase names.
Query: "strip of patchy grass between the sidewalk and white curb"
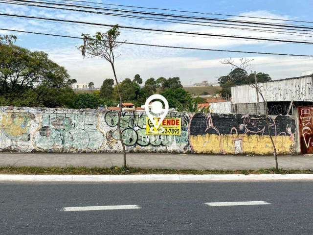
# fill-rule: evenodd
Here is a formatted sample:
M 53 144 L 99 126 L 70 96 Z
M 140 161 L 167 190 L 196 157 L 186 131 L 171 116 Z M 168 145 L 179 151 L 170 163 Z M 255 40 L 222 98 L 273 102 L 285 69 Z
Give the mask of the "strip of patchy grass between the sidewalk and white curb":
M 7 166 L 0 167 L 0 174 L 64 174 L 64 175 L 123 175 L 123 174 L 273 174 L 274 168 L 259 170 L 175 170 L 175 169 L 142 169 L 130 167 L 127 170 L 121 167 L 36 167 L 36 166 Z M 280 174 L 309 174 L 313 170 L 284 170 L 279 169 Z

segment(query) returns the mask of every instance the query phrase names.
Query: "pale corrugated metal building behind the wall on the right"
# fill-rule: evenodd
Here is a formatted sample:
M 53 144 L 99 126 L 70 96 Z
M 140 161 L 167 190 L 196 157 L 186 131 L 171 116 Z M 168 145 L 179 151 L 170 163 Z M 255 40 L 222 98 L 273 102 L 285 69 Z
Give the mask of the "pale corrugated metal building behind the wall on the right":
M 284 114 L 289 110 L 291 101 L 294 106 L 311 105 L 313 102 L 312 75 L 262 82 L 258 83 L 258 87 L 265 100 L 251 85 L 231 87 L 232 112 L 264 114 L 267 105 L 270 113 Z

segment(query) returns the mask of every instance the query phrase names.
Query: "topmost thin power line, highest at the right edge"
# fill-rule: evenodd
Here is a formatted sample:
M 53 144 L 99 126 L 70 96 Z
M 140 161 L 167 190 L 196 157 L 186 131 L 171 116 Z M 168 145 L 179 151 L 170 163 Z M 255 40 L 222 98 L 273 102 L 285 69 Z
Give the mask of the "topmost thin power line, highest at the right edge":
M 163 10 L 163 11 L 173 11 L 173 12 L 195 13 L 195 14 L 202 14 L 202 15 L 231 16 L 231 17 L 251 18 L 251 19 L 263 19 L 263 20 L 274 20 L 274 21 L 288 21 L 288 22 L 299 22 L 299 23 L 313 23 L 312 21 L 296 21 L 296 20 L 277 19 L 277 18 L 266 18 L 266 17 L 239 16 L 239 15 L 218 14 L 218 13 L 206 13 L 206 12 L 197 12 L 197 11 L 183 11 L 183 10 L 175 10 L 175 9 L 168 9 L 168 8 L 154 8 L 154 7 L 142 7 L 142 6 L 120 5 L 120 4 L 112 4 L 112 3 L 99 3 L 99 2 L 94 2 L 94 1 L 81 1 L 81 0 L 62 0 L 62 1 L 86 2 L 86 3 L 94 3 L 94 4 L 100 4 L 100 5 L 111 5 L 111 6 L 122 6 L 122 7 L 140 8 L 140 9 L 150 9 L 150 10 Z

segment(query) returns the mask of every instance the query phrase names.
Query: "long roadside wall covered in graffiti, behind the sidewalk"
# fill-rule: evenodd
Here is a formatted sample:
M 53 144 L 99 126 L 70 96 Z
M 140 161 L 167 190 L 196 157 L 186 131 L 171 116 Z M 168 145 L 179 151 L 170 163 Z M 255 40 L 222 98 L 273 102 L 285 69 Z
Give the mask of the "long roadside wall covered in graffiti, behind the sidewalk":
M 180 136 L 147 136 L 144 112 L 123 112 L 122 138 L 129 152 L 271 154 L 263 116 L 188 114 Z M 116 111 L 0 107 L 0 151 L 120 152 Z M 271 116 L 269 131 L 279 154 L 294 149 L 295 120 Z

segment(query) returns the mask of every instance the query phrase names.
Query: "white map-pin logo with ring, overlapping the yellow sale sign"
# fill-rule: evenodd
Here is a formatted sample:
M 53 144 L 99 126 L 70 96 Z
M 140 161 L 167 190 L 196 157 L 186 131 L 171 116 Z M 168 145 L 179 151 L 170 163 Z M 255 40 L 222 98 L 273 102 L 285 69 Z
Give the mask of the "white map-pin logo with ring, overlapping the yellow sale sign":
M 153 101 L 153 100 L 156 100 L 156 101 Z M 163 103 L 165 104 L 164 109 L 163 109 L 163 104 L 157 100 L 163 101 Z M 149 110 L 150 103 L 151 103 L 151 110 Z M 148 118 L 151 120 L 152 124 L 157 129 L 167 115 L 168 102 L 164 96 L 162 96 L 160 94 L 153 94 L 149 98 L 147 98 L 147 100 L 146 100 L 145 111 L 146 111 Z M 151 113 L 153 113 L 153 114 L 151 114 Z M 160 119 L 157 121 L 156 118 L 160 118 Z M 151 129 L 153 129 L 153 128 L 151 127 Z

